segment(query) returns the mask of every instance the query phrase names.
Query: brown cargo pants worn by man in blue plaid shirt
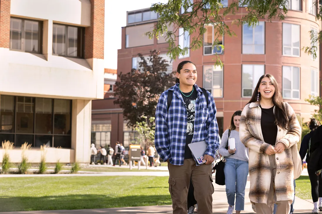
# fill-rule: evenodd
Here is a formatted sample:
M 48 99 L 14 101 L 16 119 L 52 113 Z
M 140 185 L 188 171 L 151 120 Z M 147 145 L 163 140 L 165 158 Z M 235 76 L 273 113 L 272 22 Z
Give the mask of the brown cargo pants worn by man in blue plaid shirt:
M 198 203 L 198 213 L 213 213 L 212 165 L 196 165 L 193 158 L 185 159 L 181 166 L 168 162 L 169 192 L 172 199 L 173 214 L 187 214 L 187 195 L 190 179 L 194 185 L 194 197 Z

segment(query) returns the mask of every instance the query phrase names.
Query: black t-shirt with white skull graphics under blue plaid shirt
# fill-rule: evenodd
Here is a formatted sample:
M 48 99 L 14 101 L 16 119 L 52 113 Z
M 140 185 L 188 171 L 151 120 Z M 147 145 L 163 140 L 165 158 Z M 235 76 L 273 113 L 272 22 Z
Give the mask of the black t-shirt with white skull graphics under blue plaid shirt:
M 191 92 L 189 93 L 183 93 L 186 96 L 190 95 Z M 182 95 L 182 94 L 181 94 Z M 182 98 L 185 102 L 185 107 L 187 108 L 187 133 L 186 133 L 186 138 L 185 138 L 185 159 L 188 158 L 193 158 L 191 150 L 188 147 L 188 144 L 191 143 L 192 138 L 194 137 L 194 117 L 195 117 L 195 112 L 194 112 L 194 104 L 197 99 L 197 92 L 196 88 L 194 87 L 194 91 L 189 97 L 186 97 L 182 95 Z

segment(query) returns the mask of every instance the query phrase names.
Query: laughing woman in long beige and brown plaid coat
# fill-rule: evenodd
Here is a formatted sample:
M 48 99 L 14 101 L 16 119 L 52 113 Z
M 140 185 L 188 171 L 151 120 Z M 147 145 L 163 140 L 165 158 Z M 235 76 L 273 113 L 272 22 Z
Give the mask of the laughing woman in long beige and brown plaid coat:
M 258 214 L 287 214 L 294 198 L 294 163 L 291 152 L 300 138 L 295 112 L 283 102 L 270 74 L 260 77 L 250 102 L 242 111 L 239 136 L 249 147 L 249 197 Z M 301 163 L 296 163 L 301 167 Z

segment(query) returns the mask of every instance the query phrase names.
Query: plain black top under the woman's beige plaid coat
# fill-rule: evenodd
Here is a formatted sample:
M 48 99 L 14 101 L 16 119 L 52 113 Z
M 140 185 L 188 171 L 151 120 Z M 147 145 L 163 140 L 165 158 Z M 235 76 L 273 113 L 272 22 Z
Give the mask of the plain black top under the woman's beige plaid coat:
M 275 146 L 277 136 L 277 125 L 275 125 L 274 106 L 269 109 L 261 109 L 260 126 L 263 133 L 264 142 Z

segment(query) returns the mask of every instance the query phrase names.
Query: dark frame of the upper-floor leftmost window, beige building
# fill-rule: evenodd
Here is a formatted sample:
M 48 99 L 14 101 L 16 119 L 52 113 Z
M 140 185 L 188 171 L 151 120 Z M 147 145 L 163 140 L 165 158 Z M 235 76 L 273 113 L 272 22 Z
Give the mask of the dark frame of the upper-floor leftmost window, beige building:
M 19 17 L 14 17 L 10 16 L 10 27 L 9 27 L 9 34 L 11 34 L 11 19 L 17 19 L 21 20 L 21 49 L 13 49 L 11 48 L 11 36 L 9 38 L 9 49 L 14 50 L 14 51 L 20 51 L 20 52 L 25 52 L 25 53 L 33 53 L 33 54 L 42 54 L 43 53 L 43 22 L 39 20 L 33 20 L 33 19 L 23 19 Z M 32 21 L 32 22 L 38 22 L 38 51 L 37 52 L 32 52 L 32 51 L 26 51 L 26 43 L 25 43 L 25 21 Z

